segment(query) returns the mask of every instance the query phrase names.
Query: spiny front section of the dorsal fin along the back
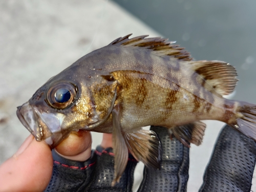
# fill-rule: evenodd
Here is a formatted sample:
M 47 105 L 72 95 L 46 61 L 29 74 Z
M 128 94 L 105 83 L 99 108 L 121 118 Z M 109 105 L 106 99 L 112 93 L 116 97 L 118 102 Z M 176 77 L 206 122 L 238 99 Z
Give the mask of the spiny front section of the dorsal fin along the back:
M 151 49 L 159 56 L 168 55 L 170 57 L 175 57 L 177 59 L 186 61 L 193 59 L 190 57 L 190 54 L 184 50 L 184 48 L 179 47 L 179 45 L 174 45 L 175 41 L 167 41 L 168 39 L 161 37 L 145 38 L 148 35 L 142 35 L 129 39 L 131 35 L 132 34 L 119 37 L 112 41 L 110 45 L 134 46 L 144 49 Z

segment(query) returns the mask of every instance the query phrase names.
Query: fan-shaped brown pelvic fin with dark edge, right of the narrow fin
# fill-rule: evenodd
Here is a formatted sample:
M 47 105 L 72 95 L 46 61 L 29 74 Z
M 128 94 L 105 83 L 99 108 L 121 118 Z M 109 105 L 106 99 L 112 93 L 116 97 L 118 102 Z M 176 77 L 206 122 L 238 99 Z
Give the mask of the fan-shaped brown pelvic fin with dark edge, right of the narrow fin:
M 160 168 L 161 143 L 154 131 L 139 130 L 124 134 L 130 153 L 145 166 Z

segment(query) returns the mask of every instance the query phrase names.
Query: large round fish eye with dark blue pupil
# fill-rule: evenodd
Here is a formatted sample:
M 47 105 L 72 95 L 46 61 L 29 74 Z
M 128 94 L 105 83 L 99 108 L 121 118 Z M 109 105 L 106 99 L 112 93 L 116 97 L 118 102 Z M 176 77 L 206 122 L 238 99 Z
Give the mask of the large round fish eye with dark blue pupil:
M 47 102 L 55 109 L 67 108 L 75 99 L 76 88 L 71 83 L 58 83 L 48 90 Z

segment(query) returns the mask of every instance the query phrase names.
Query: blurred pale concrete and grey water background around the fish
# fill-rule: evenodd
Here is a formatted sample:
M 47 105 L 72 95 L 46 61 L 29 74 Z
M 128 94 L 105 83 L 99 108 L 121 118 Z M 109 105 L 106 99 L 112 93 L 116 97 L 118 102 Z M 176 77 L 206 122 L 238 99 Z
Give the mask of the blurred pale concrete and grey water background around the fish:
M 16 117 L 16 106 L 84 54 L 129 33 L 161 35 L 177 40 L 197 60 L 229 62 L 236 66 L 240 79 L 233 98 L 256 103 L 254 1 L 118 3 L 130 13 L 103 0 L 0 0 L 0 163 L 29 135 Z M 190 148 L 188 191 L 197 191 L 201 185 L 223 125 L 206 123 L 203 144 Z M 100 141 L 101 135 L 93 133 L 94 148 Z M 142 163 L 136 169 L 138 186 Z

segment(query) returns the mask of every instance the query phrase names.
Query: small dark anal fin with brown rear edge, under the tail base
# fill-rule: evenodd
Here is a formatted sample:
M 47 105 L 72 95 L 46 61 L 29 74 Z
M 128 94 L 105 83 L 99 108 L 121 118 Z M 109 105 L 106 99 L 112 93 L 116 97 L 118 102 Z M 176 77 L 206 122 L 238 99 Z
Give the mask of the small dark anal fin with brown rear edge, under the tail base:
M 200 145 L 203 140 L 206 124 L 201 121 L 176 126 L 169 129 L 170 134 L 179 139 L 185 146 L 190 147 L 189 143 Z

